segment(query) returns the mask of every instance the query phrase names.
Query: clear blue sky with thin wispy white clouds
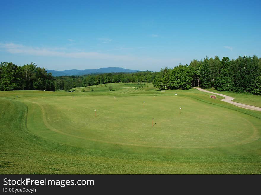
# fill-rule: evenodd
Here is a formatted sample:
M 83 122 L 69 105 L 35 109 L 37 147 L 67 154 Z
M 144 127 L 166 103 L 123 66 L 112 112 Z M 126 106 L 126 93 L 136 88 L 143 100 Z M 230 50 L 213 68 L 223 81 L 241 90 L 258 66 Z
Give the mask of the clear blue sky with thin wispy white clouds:
M 0 1 L 0 62 L 159 71 L 261 57 L 260 1 Z

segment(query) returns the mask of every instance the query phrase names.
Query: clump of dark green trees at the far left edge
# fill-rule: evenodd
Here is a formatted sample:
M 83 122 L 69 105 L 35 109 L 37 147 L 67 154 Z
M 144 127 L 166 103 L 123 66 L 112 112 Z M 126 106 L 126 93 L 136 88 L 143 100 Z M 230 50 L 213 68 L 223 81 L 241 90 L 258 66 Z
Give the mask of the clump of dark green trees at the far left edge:
M 0 90 L 46 90 L 55 91 L 55 78 L 45 68 L 34 62 L 16 66 L 12 62 L 0 64 Z

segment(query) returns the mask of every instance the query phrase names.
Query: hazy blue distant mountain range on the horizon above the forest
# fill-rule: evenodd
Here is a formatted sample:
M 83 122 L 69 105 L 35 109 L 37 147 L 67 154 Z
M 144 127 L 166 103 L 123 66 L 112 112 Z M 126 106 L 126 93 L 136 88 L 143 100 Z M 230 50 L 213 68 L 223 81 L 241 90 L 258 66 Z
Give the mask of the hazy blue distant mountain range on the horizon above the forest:
M 86 70 L 47 70 L 47 73 L 52 72 L 52 75 L 55 77 L 58 76 L 80 76 L 80 75 L 89 75 L 95 73 L 111 73 L 111 72 L 138 72 L 140 70 L 130 70 L 125 68 L 118 68 L 118 67 L 108 67 L 108 68 L 99 68 L 99 69 L 86 69 Z

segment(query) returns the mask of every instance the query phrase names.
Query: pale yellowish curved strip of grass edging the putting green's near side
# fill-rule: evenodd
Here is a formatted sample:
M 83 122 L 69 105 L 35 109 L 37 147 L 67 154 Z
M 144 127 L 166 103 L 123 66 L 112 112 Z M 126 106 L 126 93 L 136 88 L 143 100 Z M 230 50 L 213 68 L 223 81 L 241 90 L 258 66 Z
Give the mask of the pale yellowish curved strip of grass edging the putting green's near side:
M 38 98 L 33 98 L 33 99 L 38 99 Z M 30 100 L 32 100 L 32 99 L 30 99 Z M 252 123 L 247 121 L 248 123 L 251 124 L 251 126 L 254 129 L 254 133 L 252 134 L 252 136 L 246 138 L 245 140 L 239 141 L 239 142 L 234 142 L 234 143 L 231 143 L 231 144 L 225 144 L 225 145 L 219 145 L 219 146 L 153 146 L 153 145 L 130 144 L 130 143 L 122 143 L 122 142 L 114 142 L 114 141 L 104 141 L 104 140 L 99 140 L 99 139 L 94 139 L 94 138 L 87 138 L 87 137 L 83 137 L 83 136 L 72 135 L 70 133 L 65 133 L 65 132 L 63 132 L 61 130 L 58 130 L 58 129 L 52 127 L 48 123 L 48 121 L 47 121 L 47 118 L 46 118 L 46 115 L 45 115 L 45 112 L 44 112 L 44 107 L 42 107 L 42 105 L 39 104 L 38 102 L 30 101 L 30 100 L 27 100 L 27 101 L 29 101 L 31 103 L 34 103 L 34 104 L 37 104 L 41 108 L 42 116 L 43 116 L 43 122 L 44 122 L 44 124 L 46 125 L 46 127 L 49 130 L 52 130 L 52 131 L 54 131 L 56 133 L 60 133 L 60 134 L 66 135 L 66 136 L 71 136 L 71 137 L 80 138 L 80 139 L 89 140 L 89 141 L 98 141 L 98 142 L 108 143 L 108 144 L 138 146 L 138 147 L 146 147 L 146 148 L 151 147 L 151 148 L 180 148 L 180 149 L 187 149 L 187 148 L 217 148 L 217 147 L 228 147 L 228 146 L 242 145 L 242 144 L 246 144 L 246 143 L 249 143 L 251 141 L 257 140 L 259 138 L 257 129 L 254 127 L 254 125 Z

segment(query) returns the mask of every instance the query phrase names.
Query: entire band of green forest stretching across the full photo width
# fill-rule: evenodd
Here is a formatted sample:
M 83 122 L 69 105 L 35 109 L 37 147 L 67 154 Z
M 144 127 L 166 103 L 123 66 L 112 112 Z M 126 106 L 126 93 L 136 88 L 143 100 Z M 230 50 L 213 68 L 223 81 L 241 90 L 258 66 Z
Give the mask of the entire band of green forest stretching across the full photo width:
M 218 91 L 234 91 L 261 95 L 261 58 L 239 56 L 192 60 L 160 72 L 105 73 L 85 76 L 59 76 L 47 74 L 34 63 L 16 66 L 12 62 L 0 64 L 0 90 L 65 90 L 106 83 L 150 83 L 161 89 L 216 88 Z

